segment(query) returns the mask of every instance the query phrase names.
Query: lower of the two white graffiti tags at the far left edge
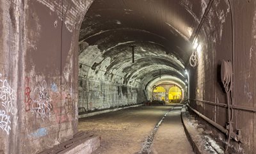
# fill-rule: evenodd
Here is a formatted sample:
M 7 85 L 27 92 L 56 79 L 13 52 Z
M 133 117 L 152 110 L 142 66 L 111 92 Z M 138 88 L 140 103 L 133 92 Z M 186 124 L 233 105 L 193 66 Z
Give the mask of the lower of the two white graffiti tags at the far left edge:
M 0 128 L 4 130 L 7 135 L 10 134 L 10 125 L 10 116 L 6 115 L 6 112 L 4 110 L 0 110 Z

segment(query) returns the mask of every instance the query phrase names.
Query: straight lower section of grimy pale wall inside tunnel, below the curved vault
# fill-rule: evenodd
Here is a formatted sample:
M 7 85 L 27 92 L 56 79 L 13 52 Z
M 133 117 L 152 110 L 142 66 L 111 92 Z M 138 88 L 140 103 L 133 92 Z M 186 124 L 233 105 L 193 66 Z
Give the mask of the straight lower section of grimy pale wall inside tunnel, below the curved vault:
M 79 78 L 79 104 L 86 111 L 109 109 L 144 102 L 143 89 L 109 81 Z

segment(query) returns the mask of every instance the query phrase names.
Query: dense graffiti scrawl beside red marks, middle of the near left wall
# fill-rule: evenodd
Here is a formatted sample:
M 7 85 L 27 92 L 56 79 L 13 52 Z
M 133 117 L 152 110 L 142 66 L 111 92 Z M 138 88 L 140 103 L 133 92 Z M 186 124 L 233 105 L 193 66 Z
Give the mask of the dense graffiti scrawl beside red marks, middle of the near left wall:
M 47 84 L 42 81 L 33 91 L 32 111 L 35 112 L 36 118 L 49 118 L 52 109 L 51 96 L 46 91 Z

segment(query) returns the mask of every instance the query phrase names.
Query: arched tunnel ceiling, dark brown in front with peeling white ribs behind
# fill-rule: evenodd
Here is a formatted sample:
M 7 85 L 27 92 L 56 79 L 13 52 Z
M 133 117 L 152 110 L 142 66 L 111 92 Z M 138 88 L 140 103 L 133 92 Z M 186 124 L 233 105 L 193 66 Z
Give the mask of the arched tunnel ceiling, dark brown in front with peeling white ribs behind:
M 147 84 L 162 75 L 184 81 L 184 63 L 208 0 L 95 0 L 84 17 L 79 51 L 84 77 Z M 132 48 L 135 45 L 132 63 Z M 84 72 L 84 73 L 83 73 Z M 101 72 L 101 73 L 100 73 Z

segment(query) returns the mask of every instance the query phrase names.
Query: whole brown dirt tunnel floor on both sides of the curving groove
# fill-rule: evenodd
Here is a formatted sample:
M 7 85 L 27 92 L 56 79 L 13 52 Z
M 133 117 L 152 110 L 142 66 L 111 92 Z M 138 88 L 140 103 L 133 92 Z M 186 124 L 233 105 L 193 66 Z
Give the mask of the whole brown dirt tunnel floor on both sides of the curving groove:
M 100 135 L 101 146 L 94 154 L 98 153 L 138 153 L 143 147 L 143 142 L 150 135 L 155 125 L 163 118 L 170 106 L 143 106 L 122 111 L 109 112 L 79 120 L 79 130 L 93 132 Z M 165 153 L 170 153 L 163 143 L 172 142 L 172 151 L 180 153 L 193 153 L 191 146 L 184 134 L 180 121 L 180 111 L 171 111 L 159 127 L 155 137 L 154 152 L 161 153 L 155 146 L 163 148 Z M 173 125 L 170 126 L 170 125 Z M 162 129 L 163 127 L 163 129 Z M 165 130 L 165 129 L 170 129 Z M 163 134 L 164 133 L 164 134 Z M 177 140 L 179 139 L 179 140 Z M 162 140 L 162 141 L 161 141 Z M 168 143 L 166 142 L 166 143 Z

